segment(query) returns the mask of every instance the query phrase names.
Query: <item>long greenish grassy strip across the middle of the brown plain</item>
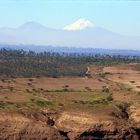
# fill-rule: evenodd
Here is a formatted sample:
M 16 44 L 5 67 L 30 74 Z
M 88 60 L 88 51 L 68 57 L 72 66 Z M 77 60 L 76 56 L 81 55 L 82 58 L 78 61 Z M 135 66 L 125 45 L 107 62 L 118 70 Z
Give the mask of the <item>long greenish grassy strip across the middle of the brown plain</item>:
M 31 92 L 30 92 L 31 91 Z M 29 100 L 25 102 L 5 102 L 0 104 L 1 109 L 20 110 L 20 111 L 39 111 L 41 109 L 72 109 L 89 110 L 95 106 L 106 106 L 112 102 L 110 93 L 92 90 L 77 90 L 70 89 L 55 90 L 49 92 L 34 92 L 26 90 L 23 94 Z M 96 107 L 95 107 L 96 108 Z

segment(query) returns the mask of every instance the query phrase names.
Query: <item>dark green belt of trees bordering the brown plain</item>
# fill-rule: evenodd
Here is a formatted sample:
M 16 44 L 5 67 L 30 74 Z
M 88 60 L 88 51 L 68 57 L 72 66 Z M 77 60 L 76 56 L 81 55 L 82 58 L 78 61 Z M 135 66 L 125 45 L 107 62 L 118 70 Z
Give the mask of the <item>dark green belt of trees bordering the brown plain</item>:
M 85 76 L 87 66 L 139 63 L 137 57 L 85 56 L 77 53 L 51 53 L 24 50 L 0 50 L 0 75 L 6 76 Z

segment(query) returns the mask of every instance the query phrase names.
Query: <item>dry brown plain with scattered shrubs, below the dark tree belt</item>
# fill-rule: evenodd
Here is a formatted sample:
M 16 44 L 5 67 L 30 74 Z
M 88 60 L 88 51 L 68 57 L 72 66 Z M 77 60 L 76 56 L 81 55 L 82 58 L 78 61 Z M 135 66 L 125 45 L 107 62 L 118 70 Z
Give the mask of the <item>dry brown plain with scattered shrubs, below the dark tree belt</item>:
M 92 65 L 89 75 L 1 77 L 0 139 L 140 139 L 136 65 Z

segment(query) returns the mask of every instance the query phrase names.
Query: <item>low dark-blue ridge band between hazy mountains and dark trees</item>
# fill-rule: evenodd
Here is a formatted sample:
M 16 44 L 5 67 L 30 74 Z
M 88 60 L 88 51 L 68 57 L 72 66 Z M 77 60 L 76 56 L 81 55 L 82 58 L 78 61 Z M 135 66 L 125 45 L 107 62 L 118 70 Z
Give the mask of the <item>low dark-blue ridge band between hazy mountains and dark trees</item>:
M 128 57 L 140 57 L 140 50 L 121 50 L 121 49 L 101 49 L 101 48 L 75 48 L 75 47 L 60 47 L 60 46 L 38 46 L 38 45 L 8 45 L 0 44 L 0 49 L 23 49 L 25 51 L 35 52 L 55 52 L 66 54 L 78 54 L 78 55 L 110 55 L 110 56 L 128 56 Z

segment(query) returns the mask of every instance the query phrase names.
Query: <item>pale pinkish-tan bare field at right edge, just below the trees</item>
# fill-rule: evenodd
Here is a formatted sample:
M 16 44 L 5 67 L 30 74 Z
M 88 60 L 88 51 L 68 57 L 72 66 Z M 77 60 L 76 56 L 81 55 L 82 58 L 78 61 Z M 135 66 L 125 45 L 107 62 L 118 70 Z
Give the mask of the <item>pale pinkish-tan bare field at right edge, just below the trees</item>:
M 134 90 L 140 91 L 140 71 L 133 69 L 133 65 L 105 67 L 107 78 L 118 83 L 130 85 Z

